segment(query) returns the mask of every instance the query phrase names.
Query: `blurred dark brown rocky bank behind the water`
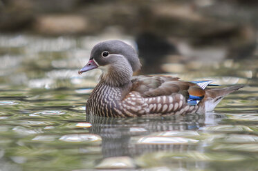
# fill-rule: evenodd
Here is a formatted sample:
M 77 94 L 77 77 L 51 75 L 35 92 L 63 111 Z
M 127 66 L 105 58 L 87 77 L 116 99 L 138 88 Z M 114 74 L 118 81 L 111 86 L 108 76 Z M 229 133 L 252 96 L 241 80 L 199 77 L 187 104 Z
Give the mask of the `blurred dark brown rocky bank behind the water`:
M 160 64 L 253 57 L 257 8 L 255 0 L 1 0 L 0 31 L 61 38 L 129 36 L 144 72 L 173 72 Z

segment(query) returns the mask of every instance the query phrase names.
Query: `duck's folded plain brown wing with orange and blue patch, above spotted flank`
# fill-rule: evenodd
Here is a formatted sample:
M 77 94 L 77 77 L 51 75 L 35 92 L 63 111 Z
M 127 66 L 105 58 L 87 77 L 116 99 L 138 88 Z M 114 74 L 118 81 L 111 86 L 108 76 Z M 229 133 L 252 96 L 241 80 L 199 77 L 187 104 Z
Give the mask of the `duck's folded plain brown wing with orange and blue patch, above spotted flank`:
M 136 91 L 142 97 L 169 96 L 174 93 L 183 94 L 185 99 L 198 99 L 204 97 L 205 91 L 196 83 L 181 81 L 178 77 L 167 76 L 137 76 L 131 80 L 131 91 Z

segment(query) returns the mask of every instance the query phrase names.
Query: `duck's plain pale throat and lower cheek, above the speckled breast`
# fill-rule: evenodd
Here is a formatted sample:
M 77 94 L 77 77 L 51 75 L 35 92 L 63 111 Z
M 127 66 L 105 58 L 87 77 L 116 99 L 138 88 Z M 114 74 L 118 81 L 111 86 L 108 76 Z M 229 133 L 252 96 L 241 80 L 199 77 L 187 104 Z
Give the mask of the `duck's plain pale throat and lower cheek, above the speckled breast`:
M 131 81 L 133 70 L 127 60 L 114 61 L 102 70 L 100 82 L 111 87 L 120 87 Z

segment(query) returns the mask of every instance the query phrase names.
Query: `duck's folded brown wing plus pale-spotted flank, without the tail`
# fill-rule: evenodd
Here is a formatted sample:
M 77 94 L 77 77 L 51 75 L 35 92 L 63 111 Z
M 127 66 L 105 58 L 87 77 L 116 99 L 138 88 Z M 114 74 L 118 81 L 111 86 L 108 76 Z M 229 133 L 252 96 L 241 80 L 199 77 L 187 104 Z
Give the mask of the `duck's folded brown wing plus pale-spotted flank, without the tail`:
M 121 101 L 120 114 L 127 117 L 195 112 L 199 106 L 187 105 L 187 101 L 190 97 L 202 99 L 205 94 L 196 83 L 177 77 L 138 76 L 131 83 L 130 92 Z

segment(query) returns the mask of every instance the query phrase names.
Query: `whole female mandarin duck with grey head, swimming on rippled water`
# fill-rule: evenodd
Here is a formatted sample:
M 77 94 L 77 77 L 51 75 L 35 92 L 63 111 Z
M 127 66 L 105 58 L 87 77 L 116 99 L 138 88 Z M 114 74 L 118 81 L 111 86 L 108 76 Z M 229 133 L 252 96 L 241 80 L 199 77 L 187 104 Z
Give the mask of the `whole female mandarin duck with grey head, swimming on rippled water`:
M 226 94 L 243 86 L 206 88 L 212 81 L 181 81 L 177 77 L 136 76 L 140 69 L 136 51 L 118 40 L 103 41 L 91 50 L 89 62 L 79 74 L 102 69 L 100 82 L 86 102 L 86 114 L 102 117 L 208 112 Z

